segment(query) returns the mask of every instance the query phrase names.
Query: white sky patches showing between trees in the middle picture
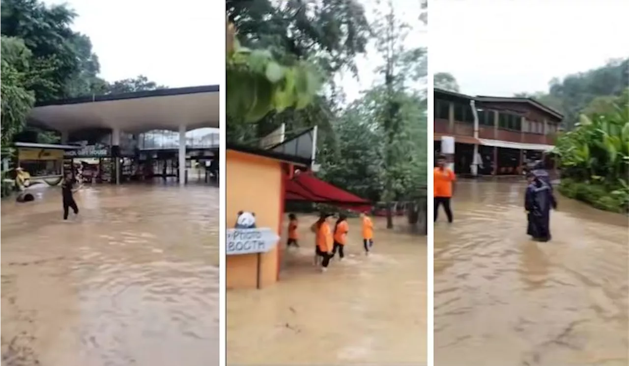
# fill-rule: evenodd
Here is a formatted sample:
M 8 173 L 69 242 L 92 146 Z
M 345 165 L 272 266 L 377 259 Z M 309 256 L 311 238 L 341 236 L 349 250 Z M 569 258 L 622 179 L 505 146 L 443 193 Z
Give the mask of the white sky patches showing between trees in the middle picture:
M 374 20 L 374 12 L 376 11 L 375 0 L 362 0 L 369 21 Z M 387 11 L 386 1 L 381 1 L 382 11 Z M 420 21 L 421 14 L 420 0 L 393 0 L 396 16 L 401 21 L 408 24 L 411 29 L 408 32 L 404 46 L 406 48 L 415 48 L 428 45 L 426 26 Z M 430 17 L 430 13 L 428 15 Z M 375 41 L 375 40 L 374 40 Z M 374 69 L 382 65 L 382 58 L 376 53 L 374 41 L 370 42 L 367 47 L 367 53 L 357 58 L 356 63 L 359 69 L 359 78 L 355 79 L 351 73 L 339 75 L 338 81 L 345 91 L 348 102 L 360 96 L 360 91 L 369 89 L 379 75 L 374 74 Z

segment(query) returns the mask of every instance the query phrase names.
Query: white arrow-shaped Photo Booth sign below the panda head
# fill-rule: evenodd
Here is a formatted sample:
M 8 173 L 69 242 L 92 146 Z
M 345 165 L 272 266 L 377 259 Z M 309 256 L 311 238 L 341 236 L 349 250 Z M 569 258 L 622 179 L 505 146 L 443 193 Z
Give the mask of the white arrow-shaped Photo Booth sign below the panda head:
M 279 236 L 268 227 L 256 229 L 227 229 L 226 254 L 265 253 L 273 249 Z

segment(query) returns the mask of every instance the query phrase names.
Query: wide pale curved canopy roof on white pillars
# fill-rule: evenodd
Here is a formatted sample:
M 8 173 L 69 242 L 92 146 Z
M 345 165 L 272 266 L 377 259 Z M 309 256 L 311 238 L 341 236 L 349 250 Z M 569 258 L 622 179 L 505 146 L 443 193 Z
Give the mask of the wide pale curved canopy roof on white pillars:
M 219 127 L 218 85 L 55 100 L 35 106 L 28 123 L 64 132 L 89 128 L 141 133 Z

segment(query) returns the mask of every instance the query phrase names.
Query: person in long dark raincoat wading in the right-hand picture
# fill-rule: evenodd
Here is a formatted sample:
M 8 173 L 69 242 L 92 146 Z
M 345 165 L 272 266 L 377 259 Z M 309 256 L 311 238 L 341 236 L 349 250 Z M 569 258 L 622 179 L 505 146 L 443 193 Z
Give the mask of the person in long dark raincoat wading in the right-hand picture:
M 550 235 L 550 208 L 557 208 L 557 201 L 550 185 L 532 172 L 526 175 L 528 186 L 525 195 L 525 210 L 528 217 L 526 234 L 533 240 L 547 242 Z

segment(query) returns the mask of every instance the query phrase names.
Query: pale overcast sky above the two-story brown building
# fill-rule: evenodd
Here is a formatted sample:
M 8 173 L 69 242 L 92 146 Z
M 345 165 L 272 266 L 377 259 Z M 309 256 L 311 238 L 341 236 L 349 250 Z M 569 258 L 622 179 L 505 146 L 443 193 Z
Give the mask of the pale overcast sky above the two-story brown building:
M 430 68 L 509 97 L 629 57 L 627 0 L 431 0 Z

